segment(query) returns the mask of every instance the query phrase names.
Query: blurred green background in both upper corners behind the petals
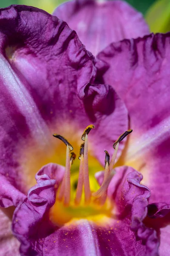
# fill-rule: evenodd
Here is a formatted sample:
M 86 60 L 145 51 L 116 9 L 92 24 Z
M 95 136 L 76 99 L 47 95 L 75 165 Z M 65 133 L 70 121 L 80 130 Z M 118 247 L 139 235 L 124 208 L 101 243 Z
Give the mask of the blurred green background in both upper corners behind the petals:
M 170 31 L 170 0 L 126 0 L 144 15 L 150 32 L 165 33 Z M 0 7 L 11 4 L 35 6 L 52 13 L 64 0 L 0 0 Z

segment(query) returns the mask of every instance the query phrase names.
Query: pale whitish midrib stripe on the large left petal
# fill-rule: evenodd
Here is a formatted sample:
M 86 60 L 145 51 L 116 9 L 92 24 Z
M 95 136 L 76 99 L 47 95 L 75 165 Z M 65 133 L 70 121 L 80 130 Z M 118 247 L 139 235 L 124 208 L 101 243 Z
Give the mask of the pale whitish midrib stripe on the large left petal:
M 34 139 L 39 144 L 48 145 L 49 130 L 36 103 L 2 54 L 0 54 L 0 79 L 3 86 L 6 86 L 8 93 L 11 94 L 12 99 L 14 99 L 20 113 L 25 116 Z

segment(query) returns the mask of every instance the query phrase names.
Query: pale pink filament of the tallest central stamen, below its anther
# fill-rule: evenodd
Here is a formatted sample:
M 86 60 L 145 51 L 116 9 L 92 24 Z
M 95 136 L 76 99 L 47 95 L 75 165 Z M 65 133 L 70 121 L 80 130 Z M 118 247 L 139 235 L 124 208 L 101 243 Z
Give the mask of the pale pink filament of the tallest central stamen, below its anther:
M 84 157 L 83 157 L 83 171 L 84 171 L 84 189 L 85 189 L 85 203 L 89 203 L 91 199 L 91 191 L 88 174 L 88 135 L 85 135 Z

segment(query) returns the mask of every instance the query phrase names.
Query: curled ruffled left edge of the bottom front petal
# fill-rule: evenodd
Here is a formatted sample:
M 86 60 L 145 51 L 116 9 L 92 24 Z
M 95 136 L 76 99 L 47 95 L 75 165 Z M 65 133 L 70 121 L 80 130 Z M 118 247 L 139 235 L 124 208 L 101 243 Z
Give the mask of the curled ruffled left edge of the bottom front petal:
M 24 204 L 20 204 L 13 215 L 13 232 L 21 242 L 20 252 L 22 255 L 33 255 L 33 249 L 38 239 L 47 236 L 50 223 L 45 221 L 45 213 L 55 203 L 54 185 L 56 181 L 51 180 L 48 175 L 42 175 L 37 180 L 37 185 L 28 191 L 28 198 Z M 38 211 L 37 211 L 38 209 Z M 27 221 L 25 221 L 27 219 Z M 44 223 L 42 223 L 44 220 Z M 36 228 L 35 228 L 36 223 Z M 38 230 L 37 230 L 38 229 Z M 42 255 L 42 245 L 36 247 L 38 255 Z

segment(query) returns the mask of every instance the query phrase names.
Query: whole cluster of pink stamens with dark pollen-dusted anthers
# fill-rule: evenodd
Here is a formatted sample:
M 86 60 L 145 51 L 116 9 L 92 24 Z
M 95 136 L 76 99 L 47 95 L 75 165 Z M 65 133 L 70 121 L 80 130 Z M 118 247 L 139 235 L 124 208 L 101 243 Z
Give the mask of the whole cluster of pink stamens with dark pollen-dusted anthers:
M 132 132 L 131 129 L 125 131 L 119 136 L 119 138 L 113 143 L 114 152 L 111 157 L 107 150 L 105 150 L 105 174 L 102 185 L 96 192 L 91 192 L 89 182 L 89 170 L 88 170 L 88 134 L 94 129 L 94 125 L 88 125 L 83 134 L 82 141 L 79 150 L 79 176 L 77 182 L 77 190 L 74 198 L 75 206 L 78 206 L 82 200 L 82 194 L 84 193 L 84 204 L 88 205 L 92 201 L 94 203 L 103 205 L 107 199 L 107 189 L 111 179 L 114 175 L 114 164 L 119 148 L 119 143 Z M 62 135 L 53 134 L 54 137 L 61 140 L 66 145 L 66 161 L 65 161 L 65 175 L 60 184 L 57 192 L 57 200 L 62 201 L 65 207 L 68 207 L 71 202 L 71 166 L 74 163 L 76 154 L 73 151 L 73 146 Z

